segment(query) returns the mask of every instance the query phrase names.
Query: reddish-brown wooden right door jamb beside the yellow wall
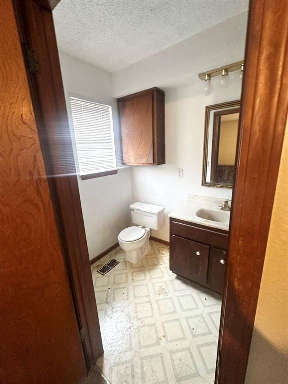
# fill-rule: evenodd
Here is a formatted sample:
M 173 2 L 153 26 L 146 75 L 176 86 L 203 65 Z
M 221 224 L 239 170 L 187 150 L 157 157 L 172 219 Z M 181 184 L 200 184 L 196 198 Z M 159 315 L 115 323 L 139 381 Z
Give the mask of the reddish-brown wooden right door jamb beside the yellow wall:
M 245 382 L 287 119 L 287 20 L 287 1 L 250 2 L 216 372 L 220 384 Z

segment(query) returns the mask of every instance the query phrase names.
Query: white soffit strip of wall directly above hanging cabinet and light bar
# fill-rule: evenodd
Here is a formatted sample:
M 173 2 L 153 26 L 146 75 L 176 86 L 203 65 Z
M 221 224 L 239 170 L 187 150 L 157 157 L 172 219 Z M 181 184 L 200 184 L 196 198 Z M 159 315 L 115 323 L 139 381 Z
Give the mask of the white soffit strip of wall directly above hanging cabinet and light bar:
M 244 12 L 113 73 L 113 96 L 184 85 L 198 73 L 243 60 L 246 28 Z

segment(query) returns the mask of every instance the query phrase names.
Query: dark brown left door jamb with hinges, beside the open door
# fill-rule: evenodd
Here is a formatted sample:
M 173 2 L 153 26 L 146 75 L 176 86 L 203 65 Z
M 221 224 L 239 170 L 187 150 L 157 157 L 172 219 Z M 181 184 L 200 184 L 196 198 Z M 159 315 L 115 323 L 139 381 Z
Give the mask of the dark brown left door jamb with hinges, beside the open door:
M 103 353 L 52 13 L 38 1 L 13 1 L 27 77 L 87 367 Z M 27 59 L 27 57 L 26 57 Z M 65 158 L 69 167 L 61 166 Z

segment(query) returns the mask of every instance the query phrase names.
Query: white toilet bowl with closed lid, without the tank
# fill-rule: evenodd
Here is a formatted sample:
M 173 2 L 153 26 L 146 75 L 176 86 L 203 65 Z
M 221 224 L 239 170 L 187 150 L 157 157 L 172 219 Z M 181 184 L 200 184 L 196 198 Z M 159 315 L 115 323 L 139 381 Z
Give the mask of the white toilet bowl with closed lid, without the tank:
M 125 251 L 126 261 L 136 264 L 151 249 L 151 230 L 140 226 L 129 226 L 118 236 L 120 247 Z

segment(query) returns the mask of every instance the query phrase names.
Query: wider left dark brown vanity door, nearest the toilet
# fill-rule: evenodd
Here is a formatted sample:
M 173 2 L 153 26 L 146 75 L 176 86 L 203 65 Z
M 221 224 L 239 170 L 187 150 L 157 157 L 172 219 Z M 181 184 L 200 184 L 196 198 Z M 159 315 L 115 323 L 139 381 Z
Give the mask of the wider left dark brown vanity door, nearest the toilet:
M 206 285 L 209 246 L 172 235 L 170 269 L 180 276 Z

